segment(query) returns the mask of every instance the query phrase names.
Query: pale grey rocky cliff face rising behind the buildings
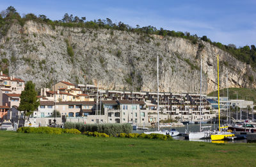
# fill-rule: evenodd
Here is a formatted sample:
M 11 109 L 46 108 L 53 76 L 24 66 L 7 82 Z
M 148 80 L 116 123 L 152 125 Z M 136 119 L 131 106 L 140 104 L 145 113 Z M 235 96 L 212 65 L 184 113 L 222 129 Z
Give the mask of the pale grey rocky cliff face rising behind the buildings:
M 160 91 L 199 93 L 202 58 L 202 91 L 209 93 L 217 90 L 216 54 L 221 88 L 256 87 L 250 65 L 207 42 L 192 44 L 170 36 L 52 28 L 28 21 L 23 27 L 13 24 L 1 36 L 0 54 L 2 68 L 8 65 L 10 75 L 32 80 L 37 88 L 50 86 L 55 76 L 56 81 L 99 84 L 104 89 L 156 91 L 158 55 Z

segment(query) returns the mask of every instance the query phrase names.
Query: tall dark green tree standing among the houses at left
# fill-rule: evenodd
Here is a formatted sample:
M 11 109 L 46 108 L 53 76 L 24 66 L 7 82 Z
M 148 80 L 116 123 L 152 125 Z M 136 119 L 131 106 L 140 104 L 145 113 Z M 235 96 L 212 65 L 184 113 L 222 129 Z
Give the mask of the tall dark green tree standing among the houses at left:
M 24 116 L 30 116 L 33 111 L 39 106 L 39 101 L 36 98 L 35 84 L 32 81 L 28 81 L 25 85 L 24 91 L 20 95 L 19 110 L 24 112 Z

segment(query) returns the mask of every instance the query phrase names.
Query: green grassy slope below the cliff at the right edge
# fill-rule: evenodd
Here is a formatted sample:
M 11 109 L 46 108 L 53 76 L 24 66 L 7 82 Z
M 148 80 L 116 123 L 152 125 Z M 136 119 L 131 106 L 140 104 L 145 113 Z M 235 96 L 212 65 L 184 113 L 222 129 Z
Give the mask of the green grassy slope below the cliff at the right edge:
M 236 100 L 236 94 L 238 99 L 252 100 L 256 102 L 256 90 L 250 88 L 228 88 L 228 94 L 230 99 Z M 212 91 L 207 96 L 218 97 L 218 91 Z M 220 90 L 220 97 L 227 97 L 227 89 Z

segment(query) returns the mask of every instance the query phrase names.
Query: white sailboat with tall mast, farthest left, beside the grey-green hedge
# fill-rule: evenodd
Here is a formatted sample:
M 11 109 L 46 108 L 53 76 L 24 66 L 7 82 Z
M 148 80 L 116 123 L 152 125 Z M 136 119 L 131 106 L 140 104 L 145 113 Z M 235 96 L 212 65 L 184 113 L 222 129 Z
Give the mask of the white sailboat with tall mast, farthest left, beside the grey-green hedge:
M 159 61 L 159 56 L 157 56 L 157 131 L 151 131 L 151 132 L 144 132 L 145 134 L 164 134 L 164 135 L 170 135 L 170 136 L 178 136 L 180 133 L 179 131 L 176 130 L 171 130 L 171 131 L 160 131 L 159 127 L 159 81 L 158 81 L 158 61 Z

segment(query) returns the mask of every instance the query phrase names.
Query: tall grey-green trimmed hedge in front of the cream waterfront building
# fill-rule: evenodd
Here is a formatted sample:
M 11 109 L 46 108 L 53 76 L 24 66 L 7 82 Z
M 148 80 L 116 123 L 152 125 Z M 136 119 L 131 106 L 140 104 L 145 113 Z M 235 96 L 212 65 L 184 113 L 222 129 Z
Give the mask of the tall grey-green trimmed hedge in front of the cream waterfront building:
M 130 123 L 99 123 L 99 124 L 84 124 L 66 122 L 64 124 L 65 129 L 77 129 L 81 132 L 100 132 L 106 133 L 111 136 L 116 136 L 119 133 L 131 133 L 132 125 Z

